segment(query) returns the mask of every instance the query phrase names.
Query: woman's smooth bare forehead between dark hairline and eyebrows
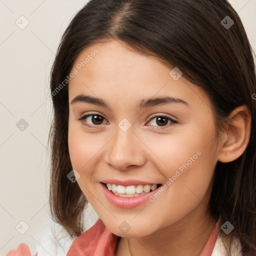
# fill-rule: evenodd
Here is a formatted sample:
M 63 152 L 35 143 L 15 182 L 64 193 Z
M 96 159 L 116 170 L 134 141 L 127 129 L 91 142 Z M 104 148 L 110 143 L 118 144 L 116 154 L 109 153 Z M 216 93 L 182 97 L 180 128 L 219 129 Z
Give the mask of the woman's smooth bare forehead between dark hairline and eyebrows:
M 135 104 L 141 98 L 172 96 L 193 103 L 207 100 L 203 91 L 184 77 L 174 80 L 171 68 L 158 60 L 135 52 L 119 41 L 95 43 L 75 59 L 72 70 L 77 73 L 69 81 L 69 103 L 77 94 L 118 99 Z M 202 102 L 203 103 L 203 102 Z

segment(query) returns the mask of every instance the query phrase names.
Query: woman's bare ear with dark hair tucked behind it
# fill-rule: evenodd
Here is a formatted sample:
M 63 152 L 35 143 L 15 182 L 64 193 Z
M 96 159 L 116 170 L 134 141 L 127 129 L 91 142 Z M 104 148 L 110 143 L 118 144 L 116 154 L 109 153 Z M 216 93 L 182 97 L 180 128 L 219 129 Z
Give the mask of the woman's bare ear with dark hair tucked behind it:
M 231 162 L 244 152 L 249 142 L 250 123 L 251 113 L 247 105 L 236 107 L 228 115 L 218 152 L 220 162 Z

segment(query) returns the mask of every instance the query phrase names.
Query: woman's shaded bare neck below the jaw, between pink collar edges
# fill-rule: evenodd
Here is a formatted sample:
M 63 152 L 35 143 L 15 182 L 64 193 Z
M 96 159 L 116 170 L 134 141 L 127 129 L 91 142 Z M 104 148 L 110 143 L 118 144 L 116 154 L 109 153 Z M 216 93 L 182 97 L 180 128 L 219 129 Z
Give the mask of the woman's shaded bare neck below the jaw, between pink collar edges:
M 205 204 L 200 203 L 189 215 L 169 226 L 143 237 L 121 237 L 116 256 L 198 256 L 203 250 L 216 220 L 209 214 L 202 216 Z

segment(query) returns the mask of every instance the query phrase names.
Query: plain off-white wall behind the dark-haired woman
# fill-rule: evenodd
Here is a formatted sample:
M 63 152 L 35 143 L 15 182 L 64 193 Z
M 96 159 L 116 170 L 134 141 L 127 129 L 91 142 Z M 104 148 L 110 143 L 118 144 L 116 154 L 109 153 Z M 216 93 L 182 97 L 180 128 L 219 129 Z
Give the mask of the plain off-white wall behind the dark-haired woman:
M 29 245 L 32 255 L 65 255 L 72 242 L 49 217 L 46 142 L 52 106 L 46 95 L 60 36 L 85 2 L 0 0 L 0 255 L 20 242 Z M 255 51 L 256 0 L 230 3 Z M 21 15 L 29 21 L 24 29 L 15 23 Z M 16 127 L 21 118 L 28 123 L 23 131 Z M 97 219 L 90 205 L 88 212 L 86 228 Z M 29 226 L 24 234 L 15 229 L 21 220 Z

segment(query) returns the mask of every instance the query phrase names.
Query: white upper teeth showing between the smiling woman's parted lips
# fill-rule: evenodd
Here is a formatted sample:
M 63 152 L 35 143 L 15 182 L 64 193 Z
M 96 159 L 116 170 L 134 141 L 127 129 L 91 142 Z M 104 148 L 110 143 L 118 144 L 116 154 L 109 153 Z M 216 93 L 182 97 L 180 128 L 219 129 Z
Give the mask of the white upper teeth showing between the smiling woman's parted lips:
M 103 184 L 112 194 L 117 196 L 123 197 L 134 197 L 139 196 L 142 194 L 147 194 L 154 191 L 156 188 L 161 186 L 162 184 L 138 184 L 138 185 L 129 185 L 123 186 L 118 184 L 110 184 L 110 183 L 103 183 Z

